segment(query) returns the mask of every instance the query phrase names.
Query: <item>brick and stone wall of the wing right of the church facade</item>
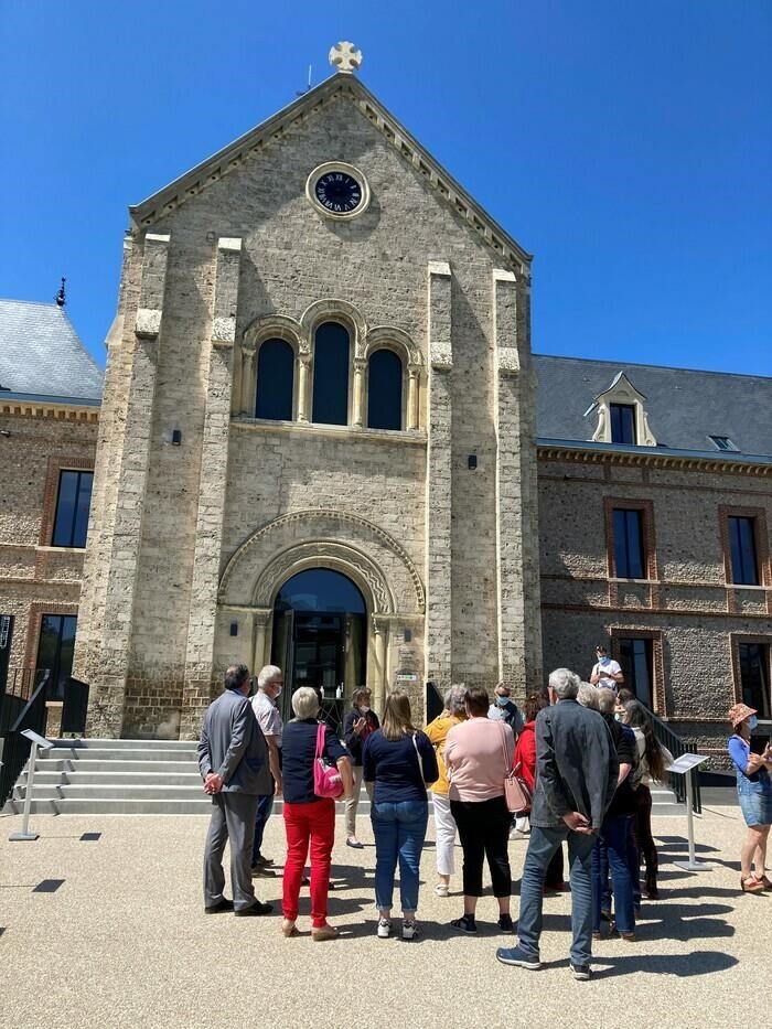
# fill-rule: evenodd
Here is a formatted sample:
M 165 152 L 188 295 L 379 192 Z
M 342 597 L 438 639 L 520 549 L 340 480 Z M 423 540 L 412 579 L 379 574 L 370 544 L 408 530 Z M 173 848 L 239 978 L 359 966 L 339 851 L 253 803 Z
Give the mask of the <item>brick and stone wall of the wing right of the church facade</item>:
M 765 512 L 766 475 L 718 472 L 705 463 L 622 463 L 612 455 L 539 458 L 539 538 L 545 669 L 566 665 L 588 678 L 594 644 L 654 636 L 657 714 L 676 733 L 720 753 L 726 712 L 740 698 L 735 636 L 772 644 L 769 539 L 761 540 L 760 587 L 727 585 L 727 508 Z M 609 508 L 647 505 L 646 545 L 656 577 L 615 581 Z M 765 524 L 764 524 L 765 523 Z

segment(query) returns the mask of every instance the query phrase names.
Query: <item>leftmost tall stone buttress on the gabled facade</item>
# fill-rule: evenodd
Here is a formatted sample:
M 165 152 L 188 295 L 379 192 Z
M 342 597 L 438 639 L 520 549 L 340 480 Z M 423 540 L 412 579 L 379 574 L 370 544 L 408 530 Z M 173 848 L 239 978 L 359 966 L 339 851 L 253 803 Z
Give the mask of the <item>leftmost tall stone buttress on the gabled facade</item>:
M 93 650 L 88 668 L 92 684 L 88 736 L 118 737 L 124 720 L 169 242 L 168 235 L 148 233 L 144 237 L 133 331 L 125 333 L 122 344 L 127 350 L 128 366 L 128 400 L 122 433 L 109 454 L 111 469 L 104 465 L 99 469 L 103 476 L 114 482 L 115 507 L 111 512 L 111 545 L 103 548 L 108 570 L 104 582 L 99 644 Z M 95 623 L 94 612 L 92 623 Z

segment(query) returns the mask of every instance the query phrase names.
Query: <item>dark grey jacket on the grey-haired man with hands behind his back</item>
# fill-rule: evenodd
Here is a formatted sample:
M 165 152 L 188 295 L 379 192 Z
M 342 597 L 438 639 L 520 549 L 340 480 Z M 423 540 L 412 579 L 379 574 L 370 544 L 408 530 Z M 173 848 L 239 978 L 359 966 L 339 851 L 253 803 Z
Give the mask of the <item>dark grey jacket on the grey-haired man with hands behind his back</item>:
M 538 712 L 532 825 L 557 828 L 562 815 L 578 811 L 600 828 L 618 775 L 616 751 L 598 711 L 560 700 Z

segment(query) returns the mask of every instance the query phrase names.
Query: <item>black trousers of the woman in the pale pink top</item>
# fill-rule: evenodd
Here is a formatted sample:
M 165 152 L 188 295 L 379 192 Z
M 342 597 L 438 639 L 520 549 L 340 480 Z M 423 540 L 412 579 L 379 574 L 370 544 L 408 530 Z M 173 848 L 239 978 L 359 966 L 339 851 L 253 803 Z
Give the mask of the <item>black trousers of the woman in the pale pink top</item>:
M 490 801 L 451 801 L 450 811 L 459 827 L 463 850 L 463 891 L 467 897 L 482 897 L 483 861 L 487 858 L 494 897 L 512 892 L 510 871 L 510 822 L 512 816 L 503 796 Z

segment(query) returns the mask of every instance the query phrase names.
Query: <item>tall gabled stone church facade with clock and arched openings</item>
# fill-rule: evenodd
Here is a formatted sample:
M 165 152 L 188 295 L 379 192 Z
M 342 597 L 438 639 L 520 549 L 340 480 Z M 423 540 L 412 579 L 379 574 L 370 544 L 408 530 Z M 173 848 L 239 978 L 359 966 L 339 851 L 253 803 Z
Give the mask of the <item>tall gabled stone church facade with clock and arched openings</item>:
M 355 217 L 307 195 L 330 164 L 368 193 Z M 416 699 L 425 677 L 540 680 L 528 255 L 345 74 L 131 216 L 75 654 L 90 732 L 180 712 L 195 733 L 223 667 L 270 658 L 276 594 L 307 568 L 360 589 L 376 704 L 397 673 Z M 345 425 L 312 420 L 329 323 Z M 266 422 L 275 340 L 292 417 Z M 396 430 L 365 417 L 382 349 Z

